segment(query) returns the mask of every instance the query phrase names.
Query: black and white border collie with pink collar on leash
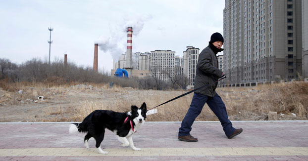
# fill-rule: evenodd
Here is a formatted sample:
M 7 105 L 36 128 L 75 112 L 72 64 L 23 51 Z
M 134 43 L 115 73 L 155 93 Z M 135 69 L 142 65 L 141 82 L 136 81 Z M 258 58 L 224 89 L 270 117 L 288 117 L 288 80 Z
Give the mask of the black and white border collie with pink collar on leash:
M 95 110 L 81 123 L 72 123 L 69 133 L 85 132 L 85 147 L 89 150 L 88 141 L 91 137 L 96 140 L 96 148 L 100 154 L 108 154 L 101 148 L 105 128 L 117 135 L 121 146 L 130 146 L 134 151 L 140 151 L 133 143 L 132 135 L 145 123 L 147 118 L 147 105 L 143 103 L 141 108 L 131 106 L 130 112 L 114 112 L 109 110 Z

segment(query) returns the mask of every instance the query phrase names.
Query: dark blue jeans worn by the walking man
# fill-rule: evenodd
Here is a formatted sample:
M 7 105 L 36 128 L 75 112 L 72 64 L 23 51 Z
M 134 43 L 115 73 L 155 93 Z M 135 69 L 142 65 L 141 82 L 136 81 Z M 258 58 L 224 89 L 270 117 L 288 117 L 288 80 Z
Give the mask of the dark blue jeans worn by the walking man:
M 217 116 L 223 130 L 227 137 L 233 134 L 235 128 L 232 127 L 231 121 L 228 119 L 228 114 L 226 111 L 225 104 L 218 94 L 214 97 L 208 97 L 206 95 L 200 93 L 194 93 L 192 103 L 184 117 L 181 127 L 179 128 L 179 136 L 187 136 L 190 135 L 190 131 L 192 130 L 192 125 L 195 119 L 201 113 L 203 106 L 207 103 L 209 108 L 214 112 Z

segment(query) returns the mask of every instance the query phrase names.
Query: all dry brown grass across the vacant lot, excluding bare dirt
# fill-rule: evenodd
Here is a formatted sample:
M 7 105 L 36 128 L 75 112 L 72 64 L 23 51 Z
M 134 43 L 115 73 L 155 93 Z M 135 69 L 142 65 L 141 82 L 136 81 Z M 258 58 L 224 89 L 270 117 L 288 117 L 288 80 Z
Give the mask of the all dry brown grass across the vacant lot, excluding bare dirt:
M 170 100 L 187 91 L 157 91 L 138 90 L 131 87 L 122 88 L 114 85 L 109 89 L 108 84 L 94 84 L 95 90 L 74 86 L 77 82 L 67 84 L 46 83 L 10 83 L 1 84 L 6 90 L 17 92 L 23 90 L 28 95 L 37 97 L 52 97 L 53 93 L 65 96 L 68 91 L 80 93 L 97 93 L 104 95 L 109 91 L 110 96 L 105 99 L 79 100 L 79 106 L 64 109 L 48 108 L 44 117 L 26 117 L 24 121 L 82 121 L 94 110 L 113 110 L 117 112 L 130 111 L 131 105 L 138 107 L 146 102 L 148 109 Z M 3 89 L 4 89 L 3 88 Z M 102 93 L 103 91 L 103 93 Z M 101 93 L 99 93 L 101 92 Z M 267 120 L 269 111 L 290 115 L 294 113 L 296 120 L 308 120 L 308 82 L 287 82 L 256 87 L 218 88 L 217 93 L 223 99 L 230 120 Z M 9 95 L 9 94 L 7 94 Z M 193 94 L 169 102 L 157 108 L 158 113 L 148 116 L 147 121 L 182 121 L 192 100 Z M 19 96 L 24 97 L 24 96 Z M 2 98 L 8 98 L 6 95 Z M 205 105 L 196 121 L 218 121 L 212 111 Z

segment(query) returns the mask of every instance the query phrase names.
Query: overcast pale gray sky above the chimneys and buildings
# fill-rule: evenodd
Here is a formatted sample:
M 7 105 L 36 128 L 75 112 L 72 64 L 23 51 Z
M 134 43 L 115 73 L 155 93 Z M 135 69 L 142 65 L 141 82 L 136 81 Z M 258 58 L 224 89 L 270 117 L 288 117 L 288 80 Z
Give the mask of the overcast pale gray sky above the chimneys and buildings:
M 126 51 L 132 26 L 133 52 L 201 50 L 210 35 L 223 35 L 225 0 L 0 0 L 0 58 L 21 64 L 32 58 L 64 59 L 93 67 L 94 43 L 101 44 L 99 70 L 110 72 Z

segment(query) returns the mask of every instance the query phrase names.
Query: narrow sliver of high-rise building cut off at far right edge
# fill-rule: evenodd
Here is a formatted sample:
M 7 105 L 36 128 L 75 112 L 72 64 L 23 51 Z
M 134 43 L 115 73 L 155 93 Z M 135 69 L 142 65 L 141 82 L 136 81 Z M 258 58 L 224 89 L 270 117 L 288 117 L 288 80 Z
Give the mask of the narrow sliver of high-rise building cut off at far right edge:
M 305 16 L 304 16 L 305 15 Z M 308 78 L 308 1 L 302 0 L 303 77 Z

